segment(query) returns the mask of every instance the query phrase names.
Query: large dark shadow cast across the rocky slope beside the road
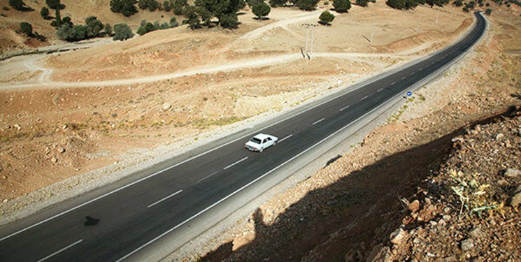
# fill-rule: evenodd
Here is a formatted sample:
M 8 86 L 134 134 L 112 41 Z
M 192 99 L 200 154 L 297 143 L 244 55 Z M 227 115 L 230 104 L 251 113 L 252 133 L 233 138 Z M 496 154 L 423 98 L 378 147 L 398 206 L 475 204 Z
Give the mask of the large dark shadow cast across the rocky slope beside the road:
M 431 170 L 438 170 L 450 152 L 451 139 L 463 131 L 464 127 L 392 154 L 310 191 L 269 224 L 257 209 L 252 216 L 254 240 L 235 251 L 234 243 L 227 242 L 201 261 L 301 261 L 304 257 L 307 261 L 365 261 L 371 247 L 389 244 L 390 233 L 408 212 L 400 199 L 411 201 L 417 186 Z

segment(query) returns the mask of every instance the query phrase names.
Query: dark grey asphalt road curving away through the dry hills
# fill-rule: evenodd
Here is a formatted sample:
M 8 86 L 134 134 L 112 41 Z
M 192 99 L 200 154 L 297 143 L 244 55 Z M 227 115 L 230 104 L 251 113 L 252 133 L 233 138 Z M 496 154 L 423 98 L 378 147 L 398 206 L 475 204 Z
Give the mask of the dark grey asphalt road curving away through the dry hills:
M 176 230 L 227 198 L 313 150 L 355 120 L 448 64 L 478 41 L 485 19 L 462 41 L 364 87 L 298 111 L 259 133 L 279 138 L 261 154 L 245 150 L 249 139 L 224 141 L 204 154 L 101 196 L 64 209 L 62 203 L 0 228 L 0 261 L 121 261 Z M 151 171 L 153 172 L 153 171 Z M 70 203 L 69 203 L 70 205 Z M 55 211 L 59 210 L 59 211 Z M 45 217 L 42 217 L 45 215 Z M 85 226 L 85 216 L 100 219 Z M 208 227 L 212 224 L 209 223 Z M 200 228 L 199 228 L 200 229 Z

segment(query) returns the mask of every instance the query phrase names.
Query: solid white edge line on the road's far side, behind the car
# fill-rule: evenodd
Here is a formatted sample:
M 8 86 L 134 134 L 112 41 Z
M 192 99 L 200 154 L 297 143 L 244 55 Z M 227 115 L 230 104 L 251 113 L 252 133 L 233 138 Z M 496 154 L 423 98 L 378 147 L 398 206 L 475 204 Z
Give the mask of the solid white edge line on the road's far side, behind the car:
M 349 92 L 347 92 L 347 93 L 341 93 L 341 94 L 338 94 L 338 95 L 336 95 L 336 96 L 332 96 L 331 99 L 324 100 L 324 101 L 322 101 L 322 103 L 318 103 L 318 104 L 316 104 L 316 105 L 313 105 L 311 108 L 308 108 L 308 109 L 306 109 L 306 110 L 302 110 L 301 112 L 297 112 L 297 114 L 290 115 L 290 116 L 288 116 L 288 117 L 286 117 L 286 118 L 284 118 L 284 119 L 280 119 L 279 121 L 277 121 L 277 122 L 275 122 L 275 123 L 273 123 L 273 124 L 269 124 L 268 126 L 265 126 L 264 129 L 268 129 L 268 128 L 271 127 L 271 126 L 275 126 L 276 124 L 279 124 L 280 122 L 284 122 L 284 121 L 286 121 L 287 119 L 291 119 L 292 117 L 297 117 L 297 115 L 301 115 L 301 114 L 303 114 L 304 112 L 308 112 L 309 110 L 313 110 L 313 109 L 319 107 L 320 105 L 323 105 L 324 103 L 329 103 L 330 101 L 333 101 L 334 99 L 338 99 L 338 97 L 344 96 L 345 94 L 349 94 Z M 208 151 L 206 151 L 206 152 L 204 152 L 204 153 L 198 154 L 198 155 L 196 155 L 196 156 L 194 156 L 194 157 L 191 157 L 190 159 L 186 159 L 185 161 L 181 161 L 181 162 L 179 162 L 179 163 L 176 163 L 176 164 L 173 165 L 173 166 L 169 166 L 168 168 L 164 168 L 163 170 L 159 170 L 159 171 L 157 171 L 156 173 L 153 173 L 152 175 L 148 175 L 148 176 L 143 177 L 143 178 L 141 178 L 141 179 L 139 179 L 139 180 L 136 180 L 136 181 L 134 181 L 134 182 L 131 182 L 130 184 L 126 184 L 126 185 L 124 185 L 123 187 L 120 187 L 119 189 L 114 189 L 113 191 L 110 191 L 110 192 L 108 192 L 108 193 L 106 193 L 106 194 L 104 194 L 104 195 L 98 196 L 97 198 L 93 198 L 92 200 L 87 201 L 87 202 L 85 202 L 85 203 L 83 203 L 83 204 L 77 205 L 77 206 L 74 207 L 74 208 L 71 208 L 71 209 L 69 209 L 69 210 L 65 210 L 64 212 L 61 212 L 61 213 L 59 213 L 59 214 L 55 214 L 54 216 L 49 217 L 48 219 L 44 219 L 44 220 L 42 220 L 42 221 L 39 221 L 38 223 L 33 224 L 33 225 L 31 225 L 31 226 L 27 226 L 27 228 L 20 229 L 19 231 L 16 231 L 15 233 L 11 233 L 10 235 L 6 235 L 5 237 L 0 238 L 0 242 L 3 241 L 3 240 L 8 239 L 8 238 L 10 238 L 10 237 L 12 237 L 13 235 L 20 234 L 20 233 L 22 233 L 22 232 L 24 232 L 24 231 L 27 231 L 27 230 L 31 229 L 31 228 L 34 228 L 34 227 L 36 227 L 36 226 L 40 226 L 41 224 L 43 224 L 43 223 L 45 223 L 45 222 L 47 222 L 47 221 L 50 221 L 50 220 L 55 219 L 55 218 L 57 218 L 57 217 L 60 217 L 60 216 L 62 216 L 62 215 L 64 215 L 64 214 L 67 214 L 67 213 L 69 213 L 69 212 L 71 212 L 71 211 L 77 210 L 78 208 L 82 208 L 83 206 L 88 205 L 88 204 L 90 204 L 90 203 L 92 203 L 92 202 L 94 202 L 94 201 L 98 201 L 98 200 L 101 199 L 101 198 L 104 198 L 104 197 L 106 197 L 106 196 L 110 196 L 111 194 L 114 194 L 114 193 L 116 193 L 117 191 L 121 191 L 121 190 L 123 190 L 123 189 L 126 189 L 127 187 L 131 187 L 131 186 L 133 186 L 134 184 L 137 184 L 137 183 L 139 183 L 139 182 L 142 182 L 143 180 L 148 180 L 150 177 L 155 177 L 156 175 L 158 175 L 158 174 L 160 174 L 160 173 L 163 173 L 163 172 L 166 171 L 166 170 L 169 170 L 169 169 L 175 168 L 176 166 L 180 166 L 180 165 L 182 165 L 183 163 L 187 163 L 188 161 L 192 161 L 193 159 L 197 159 L 198 157 L 204 156 L 205 154 L 208 154 L 208 153 L 210 153 L 210 152 L 213 152 L 213 151 L 215 151 L 215 150 L 218 150 L 218 149 L 220 149 L 221 147 L 225 147 L 225 146 L 227 146 L 227 145 L 229 145 L 229 144 L 231 144 L 231 143 L 235 143 L 236 141 L 241 140 L 241 139 L 243 139 L 243 138 L 246 138 L 246 137 L 248 137 L 248 136 L 251 136 L 251 135 L 254 134 L 254 133 L 257 133 L 257 131 L 252 131 L 252 132 L 250 132 L 250 133 L 247 133 L 247 134 L 245 134 L 244 136 L 241 136 L 241 137 L 237 138 L 236 140 L 231 140 L 231 141 L 229 141 L 228 143 L 224 143 L 224 144 L 222 144 L 222 145 L 220 145 L 220 146 L 218 146 L 218 147 L 214 147 L 213 149 L 208 150 Z

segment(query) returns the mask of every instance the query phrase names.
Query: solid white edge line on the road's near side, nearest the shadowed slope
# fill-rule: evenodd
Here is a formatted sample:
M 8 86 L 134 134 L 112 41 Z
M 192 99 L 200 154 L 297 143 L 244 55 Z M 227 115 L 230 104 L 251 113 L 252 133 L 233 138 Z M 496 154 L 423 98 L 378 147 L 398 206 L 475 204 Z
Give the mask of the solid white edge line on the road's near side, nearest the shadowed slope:
M 396 96 L 393 96 L 393 97 L 396 97 Z M 392 98 L 391 98 L 392 99 Z M 390 100 L 391 100 L 390 99 Z M 343 128 L 341 129 L 338 129 L 337 131 L 335 131 L 334 133 L 331 133 L 331 135 L 327 136 L 327 138 L 324 138 L 322 140 L 320 140 L 318 143 L 316 143 L 315 145 L 312 145 L 311 147 L 308 147 L 306 150 L 300 152 L 299 154 L 297 154 L 296 156 L 292 157 L 291 159 L 288 159 L 287 161 L 285 161 L 284 163 L 281 163 L 280 165 L 276 166 L 275 168 L 269 170 L 267 173 L 264 173 L 264 175 L 261 175 L 260 177 L 257 177 L 255 178 L 255 180 L 252 180 L 252 182 L 249 182 L 248 184 L 245 184 L 243 187 L 241 187 L 240 189 L 237 189 L 236 191 L 232 192 L 231 194 L 229 194 L 228 196 L 225 196 L 224 198 L 222 198 L 220 201 L 217 201 L 215 203 L 213 203 L 212 205 L 208 206 L 208 208 L 205 208 L 204 210 L 201 210 L 199 211 L 199 213 L 197 214 L 194 214 L 192 217 L 189 217 L 188 219 L 186 219 L 185 221 L 181 222 L 180 224 L 178 224 L 177 226 L 174 226 L 173 228 L 170 228 L 168 231 L 162 233 L 161 235 L 158 235 L 156 238 L 146 242 L 144 245 L 142 245 L 141 247 L 138 247 L 137 249 L 135 249 L 133 252 L 130 252 L 129 254 L 123 256 L 121 259 L 118 259 L 116 262 L 120 262 L 120 261 L 123 261 L 125 259 L 127 259 L 129 256 L 133 255 L 133 254 L 136 254 L 136 252 L 140 251 L 141 249 L 145 248 L 146 246 L 152 244 L 153 242 L 157 241 L 159 238 L 162 238 L 164 237 L 165 235 L 171 233 L 172 231 L 176 230 L 177 228 L 179 228 L 180 226 L 183 226 L 184 224 L 187 224 L 188 222 L 192 221 L 192 219 L 196 218 L 196 217 L 199 217 L 199 215 L 203 214 L 204 212 L 210 210 L 210 208 L 213 208 L 215 207 L 215 205 L 219 205 L 222 201 L 225 201 L 227 200 L 228 198 L 231 198 L 231 196 L 234 196 L 235 194 L 237 194 L 238 192 L 242 191 L 243 189 L 245 189 L 246 187 L 250 187 L 251 184 L 259 181 L 259 180 L 262 180 L 262 178 L 264 178 L 266 175 L 269 175 L 271 173 L 273 173 L 273 171 L 277 170 L 278 168 L 280 168 L 281 166 L 284 166 L 285 164 L 287 163 L 290 163 L 290 161 L 292 161 L 293 159 L 296 159 L 297 157 L 300 157 L 302 154 L 305 154 L 306 152 L 308 152 L 309 150 L 312 150 L 313 148 L 315 148 L 317 145 L 320 145 L 322 143 L 324 143 L 325 140 L 328 140 L 329 138 L 331 138 L 331 136 L 334 136 L 336 135 L 337 133 L 340 133 L 341 131 L 343 131 L 344 129 L 347 129 L 349 126 L 351 126 L 352 124 L 355 124 L 356 122 L 358 122 L 359 119 L 362 119 L 364 117 L 366 117 L 366 115 L 369 115 L 371 114 L 371 112 L 374 112 L 375 110 L 378 110 L 379 108 L 381 108 L 385 103 L 382 103 L 380 105 L 378 105 L 376 108 L 373 108 L 373 110 L 369 111 L 369 112 L 366 112 L 364 115 L 362 115 L 361 117 L 358 117 L 357 119 L 355 119 L 355 121 L 353 122 L 350 122 L 349 124 L 345 125 Z

